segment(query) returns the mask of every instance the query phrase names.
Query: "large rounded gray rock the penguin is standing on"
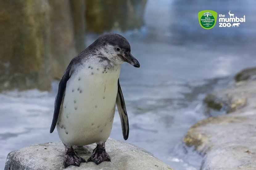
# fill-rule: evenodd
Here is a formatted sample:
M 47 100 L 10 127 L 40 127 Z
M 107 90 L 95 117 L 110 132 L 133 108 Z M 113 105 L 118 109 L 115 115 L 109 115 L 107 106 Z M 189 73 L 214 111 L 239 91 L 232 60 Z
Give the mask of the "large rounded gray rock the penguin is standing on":
M 74 149 L 79 156 L 86 160 L 92 155 L 95 147 L 96 144 L 90 144 L 83 147 L 75 147 Z M 69 166 L 66 169 L 173 170 L 146 150 L 118 140 L 109 138 L 106 142 L 106 151 L 111 158 L 111 162 L 102 162 L 99 165 L 94 162 L 81 163 L 80 167 Z M 31 145 L 10 152 L 7 156 L 5 170 L 64 169 L 64 154 L 64 145 L 61 142 Z

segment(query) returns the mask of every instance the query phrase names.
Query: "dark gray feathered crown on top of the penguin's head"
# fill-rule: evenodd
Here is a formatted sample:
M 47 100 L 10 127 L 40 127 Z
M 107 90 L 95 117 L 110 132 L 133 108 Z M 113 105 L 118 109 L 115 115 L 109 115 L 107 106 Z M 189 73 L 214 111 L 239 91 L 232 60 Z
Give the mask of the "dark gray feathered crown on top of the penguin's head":
M 119 48 L 123 49 L 124 51 L 131 51 L 131 47 L 129 42 L 120 34 L 116 33 L 108 33 L 104 34 L 101 37 L 99 37 L 95 42 L 93 42 L 94 45 L 113 45 L 118 46 Z M 91 45 L 90 45 L 91 46 Z

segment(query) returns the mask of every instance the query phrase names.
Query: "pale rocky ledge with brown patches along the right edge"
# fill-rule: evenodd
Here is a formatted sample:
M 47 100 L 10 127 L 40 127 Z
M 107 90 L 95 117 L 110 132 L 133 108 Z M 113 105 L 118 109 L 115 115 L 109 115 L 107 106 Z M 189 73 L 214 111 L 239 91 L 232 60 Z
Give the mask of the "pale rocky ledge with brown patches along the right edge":
M 237 75 L 233 86 L 204 99 L 208 108 L 228 114 L 199 121 L 184 137 L 204 156 L 201 170 L 256 169 L 256 72 L 246 69 Z

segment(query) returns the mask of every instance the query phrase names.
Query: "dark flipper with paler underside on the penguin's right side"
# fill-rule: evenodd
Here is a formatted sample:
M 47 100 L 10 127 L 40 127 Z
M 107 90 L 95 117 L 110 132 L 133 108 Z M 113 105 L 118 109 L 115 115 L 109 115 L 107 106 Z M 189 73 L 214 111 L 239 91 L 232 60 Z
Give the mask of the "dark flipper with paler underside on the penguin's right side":
M 119 116 L 121 119 L 123 137 L 124 137 L 124 140 L 127 140 L 129 136 L 129 121 L 128 121 L 128 116 L 126 112 L 123 93 L 121 90 L 121 86 L 119 84 L 119 79 L 118 79 L 118 93 L 117 93 L 116 105 L 117 105 Z

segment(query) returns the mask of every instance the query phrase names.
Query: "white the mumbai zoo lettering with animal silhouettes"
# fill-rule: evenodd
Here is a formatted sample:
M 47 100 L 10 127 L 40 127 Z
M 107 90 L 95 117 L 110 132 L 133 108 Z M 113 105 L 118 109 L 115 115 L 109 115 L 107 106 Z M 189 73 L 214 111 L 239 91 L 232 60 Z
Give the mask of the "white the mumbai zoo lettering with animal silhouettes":
M 235 17 L 234 14 L 228 12 L 229 17 L 225 17 L 223 14 L 219 14 L 219 27 L 239 27 L 240 22 L 245 22 L 245 15 L 242 18 Z

